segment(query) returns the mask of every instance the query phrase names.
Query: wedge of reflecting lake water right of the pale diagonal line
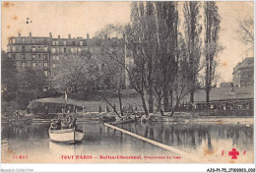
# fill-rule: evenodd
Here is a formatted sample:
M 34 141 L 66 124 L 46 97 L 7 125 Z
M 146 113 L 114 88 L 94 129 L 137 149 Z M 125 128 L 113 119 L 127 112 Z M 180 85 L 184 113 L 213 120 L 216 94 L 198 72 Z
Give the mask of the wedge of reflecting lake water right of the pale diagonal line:
M 253 153 L 253 125 L 133 123 L 120 128 L 187 152 L 221 153 L 236 147 Z

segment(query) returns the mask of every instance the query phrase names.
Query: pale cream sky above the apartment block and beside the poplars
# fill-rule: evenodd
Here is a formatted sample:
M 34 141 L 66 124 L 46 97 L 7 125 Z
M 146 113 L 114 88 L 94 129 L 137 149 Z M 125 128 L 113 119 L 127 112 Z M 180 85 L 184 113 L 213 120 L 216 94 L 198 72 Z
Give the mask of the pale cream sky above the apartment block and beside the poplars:
M 247 56 L 248 47 L 237 37 L 237 19 L 253 17 L 253 2 L 223 1 L 217 3 L 222 17 L 220 43 L 224 50 L 219 54 L 217 72 L 221 82 L 231 82 L 232 70 Z M 107 24 L 126 24 L 130 21 L 130 2 L 2 2 L 1 7 L 1 48 L 6 50 L 8 38 L 18 32 L 28 36 L 60 35 L 86 37 L 102 29 Z M 180 12 L 182 13 L 182 12 Z M 29 20 L 28 20 L 29 18 Z M 29 21 L 29 24 L 27 24 Z

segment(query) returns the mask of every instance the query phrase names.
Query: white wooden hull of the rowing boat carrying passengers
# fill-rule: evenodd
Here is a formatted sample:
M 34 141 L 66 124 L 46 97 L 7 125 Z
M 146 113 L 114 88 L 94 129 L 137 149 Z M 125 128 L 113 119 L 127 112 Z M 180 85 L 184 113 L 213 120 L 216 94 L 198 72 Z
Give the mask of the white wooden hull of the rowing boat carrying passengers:
M 49 137 L 52 142 L 77 144 L 82 142 L 85 134 L 80 129 L 49 130 Z

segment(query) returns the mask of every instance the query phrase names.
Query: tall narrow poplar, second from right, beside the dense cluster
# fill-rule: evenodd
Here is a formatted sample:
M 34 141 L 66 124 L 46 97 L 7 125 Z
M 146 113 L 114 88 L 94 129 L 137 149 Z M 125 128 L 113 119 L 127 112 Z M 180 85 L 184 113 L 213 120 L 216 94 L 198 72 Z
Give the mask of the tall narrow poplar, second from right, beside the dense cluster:
M 200 24 L 200 6 L 201 3 L 197 1 L 184 2 L 184 32 L 187 50 L 188 67 L 187 73 L 190 83 L 190 102 L 194 102 L 194 92 L 197 88 L 198 72 L 201 70 L 201 45 L 200 38 L 202 26 Z

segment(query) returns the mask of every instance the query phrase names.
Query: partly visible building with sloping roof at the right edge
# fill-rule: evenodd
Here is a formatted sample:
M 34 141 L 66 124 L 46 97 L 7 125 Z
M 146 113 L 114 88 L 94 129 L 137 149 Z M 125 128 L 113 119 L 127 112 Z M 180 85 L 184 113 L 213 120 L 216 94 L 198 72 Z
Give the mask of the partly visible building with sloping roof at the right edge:
M 233 86 L 249 87 L 254 83 L 254 57 L 245 58 L 233 68 Z

